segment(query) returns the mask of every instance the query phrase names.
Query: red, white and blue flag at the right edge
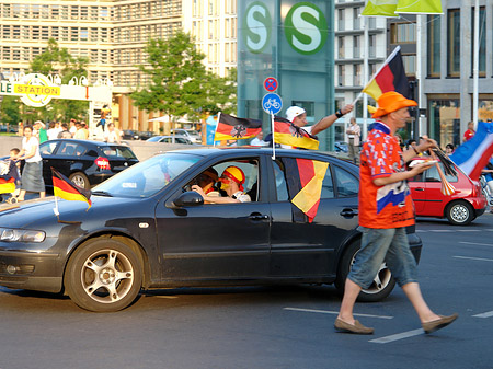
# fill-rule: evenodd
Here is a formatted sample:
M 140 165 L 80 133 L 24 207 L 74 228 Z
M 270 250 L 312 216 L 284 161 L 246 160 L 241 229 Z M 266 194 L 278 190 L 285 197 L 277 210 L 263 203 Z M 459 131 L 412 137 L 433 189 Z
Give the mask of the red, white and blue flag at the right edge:
M 479 181 L 481 171 L 493 154 L 493 123 L 478 122 L 474 136 L 450 155 L 450 160 L 459 166 L 472 181 Z

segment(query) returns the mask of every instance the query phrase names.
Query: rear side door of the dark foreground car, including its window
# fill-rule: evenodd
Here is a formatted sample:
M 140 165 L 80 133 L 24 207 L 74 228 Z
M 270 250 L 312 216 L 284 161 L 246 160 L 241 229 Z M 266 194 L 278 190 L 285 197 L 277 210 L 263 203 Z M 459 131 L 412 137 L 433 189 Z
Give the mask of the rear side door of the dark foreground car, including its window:
M 357 176 L 328 159 L 313 159 L 329 165 L 312 222 L 300 216 L 300 210 L 291 204 L 289 186 L 298 172 L 288 162 L 294 158 L 280 157 L 272 162 L 275 198 L 272 201 L 270 269 L 273 277 L 334 276 L 340 247 L 358 227 Z

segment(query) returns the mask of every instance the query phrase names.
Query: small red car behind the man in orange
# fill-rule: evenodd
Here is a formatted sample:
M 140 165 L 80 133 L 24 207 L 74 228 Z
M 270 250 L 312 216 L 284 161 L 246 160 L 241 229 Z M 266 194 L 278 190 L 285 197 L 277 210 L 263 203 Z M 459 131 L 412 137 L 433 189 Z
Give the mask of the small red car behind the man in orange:
M 438 165 L 444 171 L 442 163 Z M 456 189 L 450 196 L 440 192 L 442 181 L 436 165 L 409 180 L 416 217 L 447 218 L 452 224 L 466 226 L 485 211 L 488 201 L 481 184 L 457 166 L 456 170 L 457 176 L 446 175 Z

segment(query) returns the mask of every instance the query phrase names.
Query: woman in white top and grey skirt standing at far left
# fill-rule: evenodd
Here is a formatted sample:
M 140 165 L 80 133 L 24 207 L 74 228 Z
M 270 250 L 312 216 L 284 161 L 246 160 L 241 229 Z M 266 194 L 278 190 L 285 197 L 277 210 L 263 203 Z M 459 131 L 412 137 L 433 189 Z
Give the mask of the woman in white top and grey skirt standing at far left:
M 33 135 L 33 127 L 24 126 L 21 152 L 12 159 L 25 160 L 18 201 L 24 200 L 26 192 L 39 193 L 39 198 L 44 198 L 46 192 L 45 181 L 43 180 L 43 159 L 39 154 L 39 141 Z

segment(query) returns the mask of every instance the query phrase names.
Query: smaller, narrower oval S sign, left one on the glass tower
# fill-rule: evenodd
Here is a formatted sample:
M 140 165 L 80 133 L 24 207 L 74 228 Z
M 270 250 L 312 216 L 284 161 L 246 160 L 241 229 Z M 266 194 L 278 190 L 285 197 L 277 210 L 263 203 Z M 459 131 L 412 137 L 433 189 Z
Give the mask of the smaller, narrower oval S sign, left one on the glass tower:
M 252 53 L 261 53 L 271 39 L 272 19 L 268 9 L 260 1 L 252 2 L 243 20 L 244 42 Z

